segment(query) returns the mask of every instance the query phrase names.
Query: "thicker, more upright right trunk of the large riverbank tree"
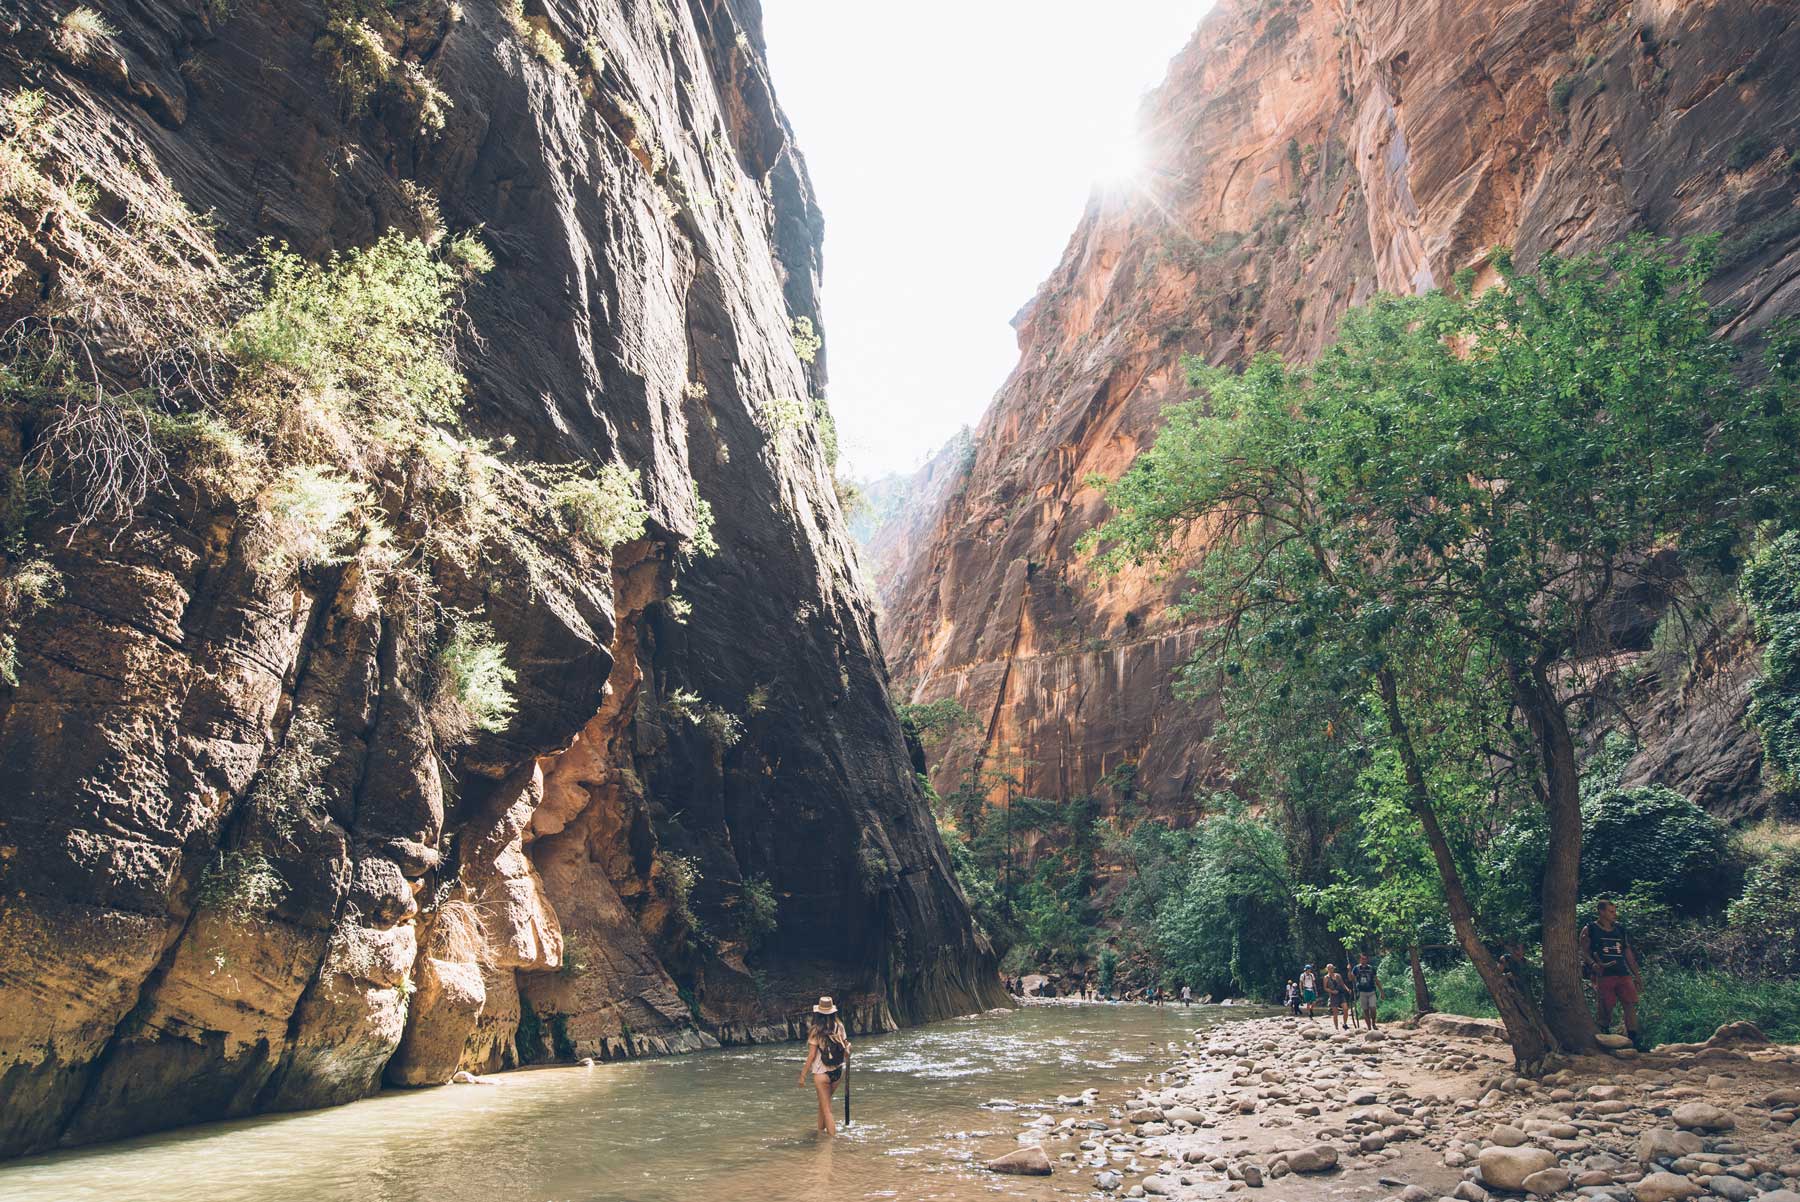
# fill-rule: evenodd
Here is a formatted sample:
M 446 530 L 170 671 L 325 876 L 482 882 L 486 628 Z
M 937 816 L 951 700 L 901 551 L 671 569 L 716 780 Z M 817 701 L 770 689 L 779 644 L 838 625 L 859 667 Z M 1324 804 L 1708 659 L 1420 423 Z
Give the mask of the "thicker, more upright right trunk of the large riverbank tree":
M 1510 669 L 1514 695 L 1537 740 L 1550 815 L 1550 855 L 1539 903 L 1544 923 L 1544 1022 L 1566 1053 L 1595 1049 L 1595 1020 L 1582 991 L 1575 905 L 1580 902 L 1580 774 L 1568 713 L 1543 666 Z

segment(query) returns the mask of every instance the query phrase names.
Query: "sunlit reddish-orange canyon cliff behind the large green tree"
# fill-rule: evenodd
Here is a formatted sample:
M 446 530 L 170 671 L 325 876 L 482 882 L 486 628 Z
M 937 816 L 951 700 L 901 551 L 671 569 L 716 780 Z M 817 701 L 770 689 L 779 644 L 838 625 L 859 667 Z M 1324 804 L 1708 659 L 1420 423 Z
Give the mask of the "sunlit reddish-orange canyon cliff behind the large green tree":
M 896 678 L 977 718 L 934 783 L 981 761 L 1071 797 L 1134 763 L 1129 788 L 1168 808 L 1222 779 L 1206 705 L 1170 700 L 1181 581 L 1096 581 L 1075 552 L 1103 518 L 1085 480 L 1186 399 L 1183 354 L 1305 360 L 1377 290 L 1636 230 L 1726 236 L 1733 336 L 1800 309 L 1796 63 L 1800 13 L 1775 2 L 1222 0 L 1145 101 L 1141 182 L 1094 198 L 1015 318 L 972 450 L 871 538 Z M 1672 745 L 1636 776 L 1760 804 L 1728 716 L 1658 725 Z M 1712 747 L 1730 763 L 1706 768 Z

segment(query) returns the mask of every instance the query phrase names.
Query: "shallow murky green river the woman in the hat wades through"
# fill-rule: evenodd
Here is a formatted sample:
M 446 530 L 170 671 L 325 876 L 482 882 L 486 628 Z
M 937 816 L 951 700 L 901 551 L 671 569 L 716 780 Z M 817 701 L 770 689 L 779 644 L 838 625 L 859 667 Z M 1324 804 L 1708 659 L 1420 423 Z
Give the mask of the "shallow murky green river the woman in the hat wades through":
M 812 1134 L 799 1051 L 511 1072 L 333 1110 L 59 1152 L 0 1166 L 16 1202 L 853 1202 L 1091 1197 L 1091 1177 L 995 1177 L 1030 1103 L 1105 1103 L 1168 1044 L 1249 1008 L 1030 1006 L 857 1040 L 855 1125 Z M 983 1107 L 992 1099 L 1017 1110 Z M 1069 1110 L 1049 1107 L 1062 1117 Z M 842 1107 L 839 1107 L 839 1119 Z M 1073 1150 L 1049 1144 L 1051 1155 Z

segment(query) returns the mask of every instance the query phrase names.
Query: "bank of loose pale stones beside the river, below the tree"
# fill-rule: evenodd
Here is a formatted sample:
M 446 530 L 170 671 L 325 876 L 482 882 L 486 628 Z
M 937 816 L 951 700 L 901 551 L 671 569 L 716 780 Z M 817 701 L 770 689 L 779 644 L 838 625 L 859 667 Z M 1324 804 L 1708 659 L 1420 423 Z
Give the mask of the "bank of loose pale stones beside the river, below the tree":
M 992 1166 L 1121 1197 L 1800 1202 L 1796 1112 L 1800 1047 L 1748 1024 L 1523 1080 L 1498 1024 L 1283 1015 L 1195 1038 L 1132 1092 L 1058 1098 Z

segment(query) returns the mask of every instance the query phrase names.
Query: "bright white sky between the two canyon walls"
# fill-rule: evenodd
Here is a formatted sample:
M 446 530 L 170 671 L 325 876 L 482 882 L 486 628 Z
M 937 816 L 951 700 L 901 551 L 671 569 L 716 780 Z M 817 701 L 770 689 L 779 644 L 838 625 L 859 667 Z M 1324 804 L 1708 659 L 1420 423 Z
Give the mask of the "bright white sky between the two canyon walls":
M 763 0 L 776 94 L 824 209 L 830 399 L 853 475 L 974 425 L 1008 320 L 1089 189 L 1129 166 L 1138 101 L 1211 0 Z

